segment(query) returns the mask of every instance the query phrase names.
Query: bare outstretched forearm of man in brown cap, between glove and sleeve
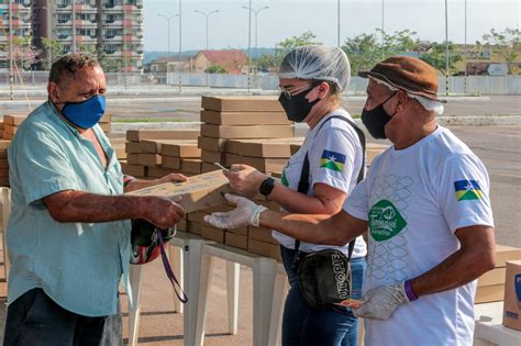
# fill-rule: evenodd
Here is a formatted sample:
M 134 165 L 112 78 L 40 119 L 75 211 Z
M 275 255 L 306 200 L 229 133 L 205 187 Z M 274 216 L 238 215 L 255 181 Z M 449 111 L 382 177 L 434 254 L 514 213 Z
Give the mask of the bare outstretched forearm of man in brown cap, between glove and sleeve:
M 367 231 L 367 221 L 345 211 L 335 215 L 285 214 L 266 210 L 260 225 L 307 243 L 344 246 Z

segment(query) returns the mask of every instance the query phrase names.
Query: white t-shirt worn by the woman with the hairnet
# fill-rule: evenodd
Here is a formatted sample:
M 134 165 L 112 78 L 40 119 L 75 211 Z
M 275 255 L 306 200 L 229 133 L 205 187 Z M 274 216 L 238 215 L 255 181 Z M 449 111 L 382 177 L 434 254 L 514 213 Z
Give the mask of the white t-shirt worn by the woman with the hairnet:
M 308 194 L 313 194 L 314 185 L 321 182 L 347 193 L 348 199 L 356 186 L 363 161 L 362 145 L 355 130 L 346 121 L 332 119 L 325 122 L 332 115 L 342 115 L 352 120 L 343 109 L 325 115 L 313 130 L 308 132 L 300 149 L 289 158 L 282 170 L 281 182 L 291 190 L 298 190 L 302 164 L 308 153 L 310 182 Z M 273 232 L 273 236 L 285 247 L 295 248 L 295 238 L 276 231 Z M 311 253 L 324 248 L 336 248 L 347 255 L 347 244 L 334 247 L 302 242 L 299 249 Z M 353 257 L 363 257 L 366 254 L 367 247 L 361 236 L 356 238 Z

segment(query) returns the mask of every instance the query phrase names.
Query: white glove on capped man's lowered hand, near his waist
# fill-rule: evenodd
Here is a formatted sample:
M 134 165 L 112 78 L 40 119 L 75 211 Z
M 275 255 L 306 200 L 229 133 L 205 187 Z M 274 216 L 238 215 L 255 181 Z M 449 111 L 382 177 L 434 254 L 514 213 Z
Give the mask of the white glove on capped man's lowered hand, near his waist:
M 387 320 L 398 305 L 410 302 L 403 282 L 368 290 L 362 300 L 364 301 L 363 305 L 353 309 L 353 314 L 357 317 L 374 320 Z

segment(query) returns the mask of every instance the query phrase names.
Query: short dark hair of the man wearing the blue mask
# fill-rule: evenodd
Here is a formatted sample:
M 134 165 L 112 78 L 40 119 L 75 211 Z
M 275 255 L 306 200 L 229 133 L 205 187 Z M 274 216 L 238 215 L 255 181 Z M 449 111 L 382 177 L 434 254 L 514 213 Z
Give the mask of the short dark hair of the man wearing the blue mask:
M 48 81 L 63 87 L 84 67 L 100 66 L 96 57 L 88 53 L 68 53 L 53 63 Z

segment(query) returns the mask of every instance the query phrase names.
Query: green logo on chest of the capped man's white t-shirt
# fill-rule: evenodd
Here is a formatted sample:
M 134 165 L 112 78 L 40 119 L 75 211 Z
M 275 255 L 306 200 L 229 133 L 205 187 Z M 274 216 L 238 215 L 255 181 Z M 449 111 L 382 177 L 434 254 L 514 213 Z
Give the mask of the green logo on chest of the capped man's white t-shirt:
M 406 226 L 407 221 L 388 200 L 380 200 L 369 209 L 369 233 L 376 242 L 392 238 Z

